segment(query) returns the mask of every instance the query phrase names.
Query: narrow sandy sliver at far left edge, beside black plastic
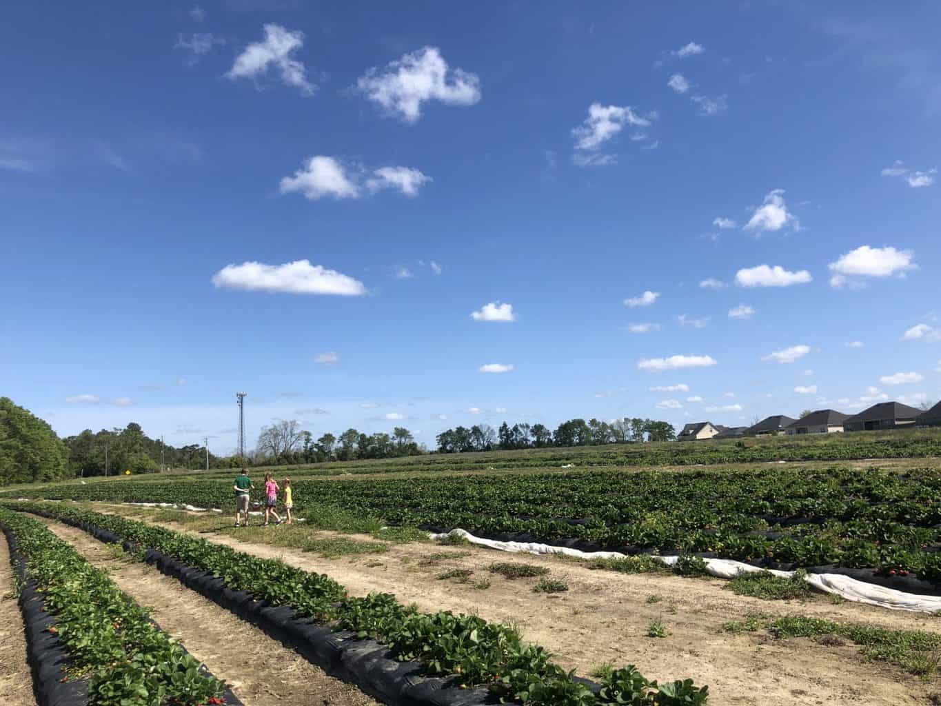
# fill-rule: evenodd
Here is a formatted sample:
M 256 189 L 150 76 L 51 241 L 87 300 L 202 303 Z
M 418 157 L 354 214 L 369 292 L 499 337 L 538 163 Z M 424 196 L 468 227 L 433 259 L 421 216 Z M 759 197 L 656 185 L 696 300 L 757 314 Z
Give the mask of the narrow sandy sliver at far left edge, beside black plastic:
M 33 677 L 26 664 L 23 614 L 13 596 L 13 586 L 7 538 L 0 535 L 0 703 L 36 706 Z

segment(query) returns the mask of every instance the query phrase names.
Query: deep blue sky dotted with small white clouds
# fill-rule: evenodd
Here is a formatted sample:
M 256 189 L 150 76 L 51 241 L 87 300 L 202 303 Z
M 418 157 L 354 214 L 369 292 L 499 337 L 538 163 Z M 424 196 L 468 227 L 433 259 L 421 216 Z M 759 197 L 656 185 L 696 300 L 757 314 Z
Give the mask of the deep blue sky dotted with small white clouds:
M 939 22 L 15 4 L 0 391 L 223 453 L 240 390 L 249 441 L 936 400 Z

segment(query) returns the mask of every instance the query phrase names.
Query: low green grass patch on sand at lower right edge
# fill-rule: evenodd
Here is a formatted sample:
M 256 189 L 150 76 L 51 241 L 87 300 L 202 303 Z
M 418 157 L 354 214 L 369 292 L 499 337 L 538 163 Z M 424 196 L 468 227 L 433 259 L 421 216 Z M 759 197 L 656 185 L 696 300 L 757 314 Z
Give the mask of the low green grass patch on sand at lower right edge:
M 860 647 L 865 659 L 900 666 L 924 679 L 937 674 L 941 666 L 941 635 L 919 630 L 887 630 L 806 616 L 752 616 L 726 623 L 723 630 L 729 633 L 767 630 L 776 638 L 810 637 L 821 644 L 832 644 L 834 639 L 842 638 Z

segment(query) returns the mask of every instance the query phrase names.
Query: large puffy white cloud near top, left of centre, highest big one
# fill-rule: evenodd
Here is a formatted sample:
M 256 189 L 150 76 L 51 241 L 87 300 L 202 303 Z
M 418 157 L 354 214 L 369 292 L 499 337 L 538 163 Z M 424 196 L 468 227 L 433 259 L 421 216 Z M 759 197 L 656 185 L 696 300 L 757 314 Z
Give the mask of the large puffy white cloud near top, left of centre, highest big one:
M 388 113 L 406 122 L 422 117 L 422 104 L 472 105 L 480 101 L 480 78 L 449 69 L 438 47 L 426 46 L 386 66 L 373 67 L 357 81 L 357 89 Z

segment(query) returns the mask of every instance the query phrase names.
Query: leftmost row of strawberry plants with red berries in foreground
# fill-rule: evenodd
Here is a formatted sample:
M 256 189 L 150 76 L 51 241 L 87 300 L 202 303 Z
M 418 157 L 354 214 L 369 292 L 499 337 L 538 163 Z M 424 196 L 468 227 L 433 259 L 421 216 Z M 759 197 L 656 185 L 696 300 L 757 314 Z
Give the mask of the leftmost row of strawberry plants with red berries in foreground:
M 28 577 L 55 619 L 71 657 L 66 679 L 88 680 L 96 706 L 186 706 L 224 703 L 225 684 L 172 642 L 148 612 L 121 592 L 40 521 L 0 507 L 0 524 L 16 538 Z

